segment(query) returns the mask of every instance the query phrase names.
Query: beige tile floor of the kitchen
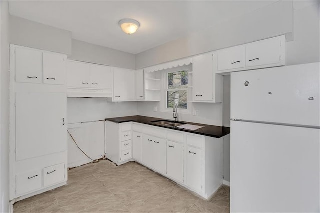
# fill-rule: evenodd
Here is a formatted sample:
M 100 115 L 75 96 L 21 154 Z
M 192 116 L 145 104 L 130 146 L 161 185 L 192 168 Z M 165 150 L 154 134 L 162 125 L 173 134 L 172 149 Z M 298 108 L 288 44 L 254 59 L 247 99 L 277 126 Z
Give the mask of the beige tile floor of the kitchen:
M 229 212 L 229 187 L 205 201 L 136 162 L 100 160 L 68 175 L 67 185 L 19 201 L 13 212 Z

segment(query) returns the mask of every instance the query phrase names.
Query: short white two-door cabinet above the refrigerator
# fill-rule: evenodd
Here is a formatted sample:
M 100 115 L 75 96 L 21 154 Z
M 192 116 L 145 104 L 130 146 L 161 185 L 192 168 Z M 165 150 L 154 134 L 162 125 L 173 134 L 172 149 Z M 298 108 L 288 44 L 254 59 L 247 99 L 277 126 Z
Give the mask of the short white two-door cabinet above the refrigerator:
M 229 73 L 285 65 L 285 36 L 221 49 L 217 55 L 217 73 Z

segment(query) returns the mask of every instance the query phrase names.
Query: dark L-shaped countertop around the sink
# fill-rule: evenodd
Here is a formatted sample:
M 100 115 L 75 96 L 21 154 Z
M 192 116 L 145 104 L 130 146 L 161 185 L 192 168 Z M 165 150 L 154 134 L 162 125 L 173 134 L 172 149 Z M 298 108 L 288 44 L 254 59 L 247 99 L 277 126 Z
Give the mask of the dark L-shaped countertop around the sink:
M 191 125 L 200 125 L 200 126 L 204 126 L 204 127 L 193 131 L 193 130 L 178 128 L 178 127 L 173 127 L 173 126 L 158 125 L 158 124 L 152 123 L 151 121 L 163 120 L 162 118 L 145 117 L 145 116 L 139 116 L 139 115 L 127 116 L 127 117 L 106 118 L 105 120 L 112 121 L 115 123 L 137 122 L 137 123 L 143 123 L 143 124 L 147 124 L 147 125 L 153 125 L 153 126 L 158 126 L 158 127 L 168 128 L 168 129 L 174 129 L 174 130 L 178 130 L 178 131 L 185 131 L 185 132 L 190 132 L 190 133 L 194 133 L 194 134 L 201 134 L 201 135 L 205 135 L 205 136 L 209 136 L 209 137 L 216 137 L 216 138 L 223 137 L 223 136 L 230 133 L 229 127 L 206 125 L 206 124 L 201 124 L 201 123 L 191 123 L 191 122 L 185 122 L 185 121 L 180 121 L 180 120 L 179 120 L 179 122 L 184 122 L 186 124 L 191 124 Z M 174 120 L 171 120 L 171 121 L 174 121 Z

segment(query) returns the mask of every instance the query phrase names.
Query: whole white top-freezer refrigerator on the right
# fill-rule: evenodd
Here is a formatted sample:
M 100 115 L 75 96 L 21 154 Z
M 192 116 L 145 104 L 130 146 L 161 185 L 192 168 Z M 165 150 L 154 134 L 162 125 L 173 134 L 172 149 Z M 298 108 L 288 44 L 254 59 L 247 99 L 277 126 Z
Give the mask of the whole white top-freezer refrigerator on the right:
M 231 73 L 231 212 L 319 212 L 320 63 Z

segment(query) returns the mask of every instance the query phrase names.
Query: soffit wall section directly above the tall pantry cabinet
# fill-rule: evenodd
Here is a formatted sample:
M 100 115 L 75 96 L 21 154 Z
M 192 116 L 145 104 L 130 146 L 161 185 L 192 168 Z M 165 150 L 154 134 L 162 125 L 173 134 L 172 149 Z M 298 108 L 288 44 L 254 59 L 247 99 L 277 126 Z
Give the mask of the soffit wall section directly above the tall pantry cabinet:
M 71 32 L 10 15 L 10 43 L 71 54 Z

